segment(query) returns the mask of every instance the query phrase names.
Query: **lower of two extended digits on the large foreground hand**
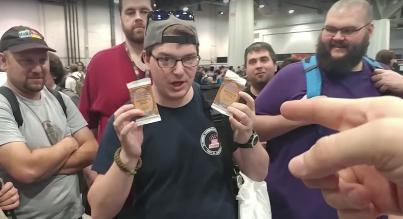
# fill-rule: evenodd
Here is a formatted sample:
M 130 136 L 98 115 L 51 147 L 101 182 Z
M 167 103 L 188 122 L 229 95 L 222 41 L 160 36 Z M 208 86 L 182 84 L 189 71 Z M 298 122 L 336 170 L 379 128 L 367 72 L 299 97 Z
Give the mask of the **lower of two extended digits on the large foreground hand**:
M 403 119 L 388 118 L 325 136 L 291 159 L 289 170 L 297 178 L 319 179 L 347 167 L 371 165 L 403 185 L 402 132 Z

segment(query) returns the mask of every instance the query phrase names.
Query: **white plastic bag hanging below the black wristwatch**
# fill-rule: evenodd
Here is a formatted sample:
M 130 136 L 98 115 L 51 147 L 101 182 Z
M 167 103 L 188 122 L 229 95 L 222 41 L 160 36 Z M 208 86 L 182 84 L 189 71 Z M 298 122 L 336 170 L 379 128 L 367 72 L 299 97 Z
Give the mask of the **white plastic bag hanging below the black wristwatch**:
M 244 183 L 236 199 L 239 219 L 271 219 L 271 207 L 266 182 L 256 182 L 241 173 Z

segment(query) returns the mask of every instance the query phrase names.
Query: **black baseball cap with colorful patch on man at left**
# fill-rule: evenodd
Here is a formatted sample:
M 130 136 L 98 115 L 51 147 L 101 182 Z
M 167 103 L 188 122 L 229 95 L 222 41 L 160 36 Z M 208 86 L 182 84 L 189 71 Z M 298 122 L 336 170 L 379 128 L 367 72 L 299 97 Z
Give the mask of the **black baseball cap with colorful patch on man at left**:
M 46 49 L 56 52 L 55 49 L 47 46 L 44 37 L 37 30 L 28 26 L 14 26 L 0 39 L 0 52 L 5 50 L 20 52 L 28 49 Z

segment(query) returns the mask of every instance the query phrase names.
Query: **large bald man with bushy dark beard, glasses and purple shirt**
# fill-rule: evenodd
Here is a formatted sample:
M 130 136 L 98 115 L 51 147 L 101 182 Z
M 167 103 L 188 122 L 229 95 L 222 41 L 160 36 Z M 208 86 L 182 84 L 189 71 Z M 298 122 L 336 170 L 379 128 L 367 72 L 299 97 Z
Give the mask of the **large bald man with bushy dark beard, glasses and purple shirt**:
M 364 0 L 341 0 L 329 10 L 316 52 L 322 77 L 321 95 L 375 97 L 384 94 L 383 87 L 389 87 L 395 95 L 401 94 L 397 84 L 385 79 L 397 73 L 384 69 L 373 72 L 363 59 L 373 33 L 371 21 L 371 6 Z M 255 130 L 261 141 L 268 141 L 266 150 L 270 155 L 266 182 L 272 215 L 279 219 L 336 219 L 337 211 L 326 204 L 321 191 L 308 188 L 288 171 L 291 158 L 309 150 L 323 136 L 336 132 L 306 121 L 290 121 L 281 115 L 284 102 L 306 95 L 306 73 L 298 62 L 281 69 L 256 98 L 256 114 L 260 116 Z

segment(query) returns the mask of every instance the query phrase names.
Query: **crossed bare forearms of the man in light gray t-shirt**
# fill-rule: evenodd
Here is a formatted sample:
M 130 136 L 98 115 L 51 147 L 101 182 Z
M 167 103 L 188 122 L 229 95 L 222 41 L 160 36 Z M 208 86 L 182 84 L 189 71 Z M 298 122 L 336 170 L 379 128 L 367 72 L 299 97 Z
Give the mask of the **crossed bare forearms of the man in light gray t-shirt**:
M 91 131 L 84 127 L 73 137 L 36 150 L 17 141 L 0 146 L 0 165 L 13 178 L 32 183 L 52 175 L 74 174 L 92 163 L 97 142 Z

